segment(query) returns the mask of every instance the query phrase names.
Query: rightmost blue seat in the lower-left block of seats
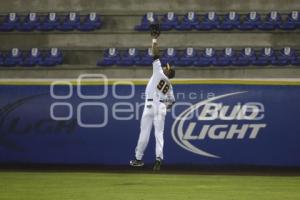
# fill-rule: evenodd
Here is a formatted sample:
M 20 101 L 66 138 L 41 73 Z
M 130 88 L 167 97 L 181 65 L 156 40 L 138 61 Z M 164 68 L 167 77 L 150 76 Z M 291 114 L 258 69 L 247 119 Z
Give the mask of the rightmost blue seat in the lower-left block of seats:
M 55 66 L 63 63 L 62 52 L 57 48 L 51 48 L 50 51 L 40 61 L 41 66 Z

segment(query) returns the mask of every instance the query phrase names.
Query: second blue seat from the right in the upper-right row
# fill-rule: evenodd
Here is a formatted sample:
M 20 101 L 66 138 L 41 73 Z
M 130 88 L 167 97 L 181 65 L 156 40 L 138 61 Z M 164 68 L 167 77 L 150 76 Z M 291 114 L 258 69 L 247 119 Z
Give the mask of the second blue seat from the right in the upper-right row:
M 281 16 L 277 11 L 270 12 L 265 19 L 258 25 L 260 30 L 274 30 L 279 28 Z

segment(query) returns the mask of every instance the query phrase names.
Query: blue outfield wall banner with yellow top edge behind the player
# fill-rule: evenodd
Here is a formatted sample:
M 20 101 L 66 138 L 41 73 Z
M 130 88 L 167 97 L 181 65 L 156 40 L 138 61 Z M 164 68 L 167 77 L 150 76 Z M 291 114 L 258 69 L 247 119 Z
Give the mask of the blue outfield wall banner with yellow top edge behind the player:
M 0 163 L 128 164 L 146 82 L 0 82 Z M 300 82 L 175 80 L 173 88 L 165 164 L 300 166 Z M 145 162 L 154 152 L 152 133 Z

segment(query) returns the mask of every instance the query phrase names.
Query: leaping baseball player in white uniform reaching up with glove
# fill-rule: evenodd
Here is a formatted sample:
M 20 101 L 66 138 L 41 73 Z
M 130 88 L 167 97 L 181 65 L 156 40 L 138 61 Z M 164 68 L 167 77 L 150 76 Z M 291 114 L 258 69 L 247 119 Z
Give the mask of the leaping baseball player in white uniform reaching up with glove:
M 144 165 L 142 161 L 144 151 L 149 142 L 152 126 L 155 129 L 156 159 L 154 162 L 154 171 L 159 171 L 163 160 L 164 146 L 164 123 L 166 111 L 175 103 L 172 85 L 169 79 L 175 76 L 175 70 L 167 64 L 162 67 L 159 60 L 159 48 L 157 38 L 160 34 L 158 25 L 151 28 L 152 52 L 153 52 L 153 73 L 146 87 L 145 107 L 141 119 L 140 136 L 135 149 L 135 159 L 130 161 L 133 167 Z

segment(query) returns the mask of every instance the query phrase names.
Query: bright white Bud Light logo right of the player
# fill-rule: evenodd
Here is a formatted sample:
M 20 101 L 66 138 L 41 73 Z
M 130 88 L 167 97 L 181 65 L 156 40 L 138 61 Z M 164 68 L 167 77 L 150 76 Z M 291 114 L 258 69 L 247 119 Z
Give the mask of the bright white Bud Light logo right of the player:
M 175 119 L 172 126 L 174 141 L 184 149 L 193 153 L 213 158 L 220 158 L 217 155 L 205 152 L 192 145 L 190 141 L 205 140 L 231 140 L 244 138 L 256 139 L 265 123 L 258 123 L 264 118 L 264 105 L 259 102 L 248 102 L 243 105 L 223 105 L 212 103 L 215 100 L 243 94 L 235 92 L 216 96 L 187 108 Z M 232 108 L 231 108 L 232 107 Z M 197 112 L 198 111 L 198 112 Z M 190 116 L 195 113 L 196 119 Z M 220 124 L 210 125 L 211 121 L 220 121 Z M 183 130 L 184 124 L 187 128 Z

